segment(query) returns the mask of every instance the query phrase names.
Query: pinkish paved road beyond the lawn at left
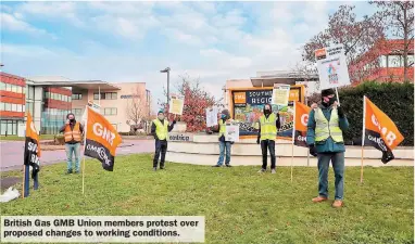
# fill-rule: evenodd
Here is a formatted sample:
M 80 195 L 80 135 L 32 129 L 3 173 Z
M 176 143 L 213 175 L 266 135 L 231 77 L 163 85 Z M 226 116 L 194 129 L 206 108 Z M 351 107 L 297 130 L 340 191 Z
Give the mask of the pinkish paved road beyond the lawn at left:
M 23 165 L 23 141 L 1 141 L 0 142 L 0 171 L 9 171 L 21 169 Z M 116 155 L 134 154 L 134 153 L 150 153 L 154 151 L 153 140 L 125 140 L 117 150 Z M 84 150 L 81 150 L 81 154 Z M 66 154 L 64 150 L 42 151 L 41 165 L 50 165 L 59 162 L 64 162 Z

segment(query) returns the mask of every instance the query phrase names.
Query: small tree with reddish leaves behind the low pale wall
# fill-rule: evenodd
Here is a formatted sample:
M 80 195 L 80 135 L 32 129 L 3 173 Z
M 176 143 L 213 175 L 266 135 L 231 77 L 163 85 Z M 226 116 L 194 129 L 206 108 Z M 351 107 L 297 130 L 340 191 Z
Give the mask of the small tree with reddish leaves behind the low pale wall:
M 199 79 L 191 79 L 188 75 L 180 76 L 180 81 L 176 84 L 177 94 L 185 99 L 183 115 L 178 120 L 186 123 L 188 132 L 202 131 L 206 127 L 206 108 L 217 105 L 219 101 L 214 95 L 206 92 L 200 85 Z M 166 94 L 166 92 L 164 92 Z M 165 102 L 160 105 L 168 111 Z M 174 115 L 169 115 L 172 119 Z

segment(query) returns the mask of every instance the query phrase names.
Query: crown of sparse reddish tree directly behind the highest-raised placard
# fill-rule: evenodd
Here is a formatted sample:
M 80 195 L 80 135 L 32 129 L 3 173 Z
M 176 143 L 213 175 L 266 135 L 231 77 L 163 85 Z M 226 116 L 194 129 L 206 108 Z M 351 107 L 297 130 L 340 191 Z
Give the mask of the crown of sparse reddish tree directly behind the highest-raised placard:
M 354 8 L 354 5 L 340 5 L 337 12 L 329 15 L 328 27 L 304 44 L 303 61 L 314 63 L 316 49 L 341 43 L 350 65 L 357 62 L 363 53 L 385 37 L 383 27 L 377 15 L 364 16 L 362 21 L 356 21 Z M 359 72 L 350 69 L 350 77 L 353 79 Z

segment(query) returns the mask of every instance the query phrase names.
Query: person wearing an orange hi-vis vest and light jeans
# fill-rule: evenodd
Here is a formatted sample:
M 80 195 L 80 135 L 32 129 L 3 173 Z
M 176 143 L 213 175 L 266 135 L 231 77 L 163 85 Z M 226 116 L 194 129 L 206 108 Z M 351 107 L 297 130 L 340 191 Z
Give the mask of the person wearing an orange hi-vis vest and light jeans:
M 70 113 L 66 115 L 66 124 L 62 126 L 60 132 L 64 133 L 65 151 L 67 162 L 67 174 L 72 174 L 72 154 L 75 156 L 75 172 L 79 174 L 79 149 L 84 126 L 76 121 L 75 115 Z

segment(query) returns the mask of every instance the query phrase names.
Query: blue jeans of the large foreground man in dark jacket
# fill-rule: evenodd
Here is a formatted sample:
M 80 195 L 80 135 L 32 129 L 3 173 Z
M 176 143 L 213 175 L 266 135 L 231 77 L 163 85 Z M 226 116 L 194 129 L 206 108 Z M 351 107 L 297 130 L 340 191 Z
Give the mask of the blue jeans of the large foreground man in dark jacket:
M 343 200 L 344 192 L 344 153 L 318 154 L 318 194 L 328 197 L 328 168 L 332 165 L 335 171 L 335 200 Z

